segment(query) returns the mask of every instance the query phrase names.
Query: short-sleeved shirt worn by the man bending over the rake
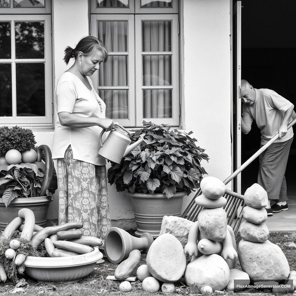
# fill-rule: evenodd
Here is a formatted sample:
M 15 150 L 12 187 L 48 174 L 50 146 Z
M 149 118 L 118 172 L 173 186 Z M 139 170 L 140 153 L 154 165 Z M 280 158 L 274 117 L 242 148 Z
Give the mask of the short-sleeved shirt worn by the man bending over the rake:
M 252 121 L 255 119 L 258 128 L 261 130 L 261 145 L 264 145 L 277 133 L 283 122 L 285 112 L 293 104 L 271 89 L 255 89 L 255 92 L 255 104 L 243 104 L 242 106 L 242 120 L 250 130 Z M 289 128 L 284 137 L 274 142 L 288 141 L 292 136 L 293 129 Z

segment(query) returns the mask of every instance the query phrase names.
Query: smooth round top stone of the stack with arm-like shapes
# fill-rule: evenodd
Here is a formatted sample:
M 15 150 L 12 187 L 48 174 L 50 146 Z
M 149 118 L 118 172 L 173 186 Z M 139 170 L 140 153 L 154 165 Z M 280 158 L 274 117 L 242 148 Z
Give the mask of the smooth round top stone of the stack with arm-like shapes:
M 216 200 L 225 194 L 226 186 L 218 178 L 207 176 L 200 181 L 200 189 L 207 198 Z

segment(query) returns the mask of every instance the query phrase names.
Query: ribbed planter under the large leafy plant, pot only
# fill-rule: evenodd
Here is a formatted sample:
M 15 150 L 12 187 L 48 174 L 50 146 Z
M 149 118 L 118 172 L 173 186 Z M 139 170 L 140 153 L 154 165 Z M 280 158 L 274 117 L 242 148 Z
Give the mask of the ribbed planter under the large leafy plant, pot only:
M 127 192 L 133 203 L 137 230 L 135 235 L 140 237 L 149 232 L 153 238 L 159 236 L 163 216 L 181 216 L 183 197 L 186 191 L 177 192 L 171 198 L 165 194 L 145 194 Z

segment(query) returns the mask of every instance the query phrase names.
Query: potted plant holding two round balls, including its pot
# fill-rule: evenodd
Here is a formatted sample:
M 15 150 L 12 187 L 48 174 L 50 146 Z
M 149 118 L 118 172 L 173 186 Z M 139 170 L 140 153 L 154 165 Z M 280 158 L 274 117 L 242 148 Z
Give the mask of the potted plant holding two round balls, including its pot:
M 0 230 L 23 208 L 32 210 L 36 224 L 44 226 L 57 189 L 47 145 L 35 147 L 30 129 L 0 127 Z

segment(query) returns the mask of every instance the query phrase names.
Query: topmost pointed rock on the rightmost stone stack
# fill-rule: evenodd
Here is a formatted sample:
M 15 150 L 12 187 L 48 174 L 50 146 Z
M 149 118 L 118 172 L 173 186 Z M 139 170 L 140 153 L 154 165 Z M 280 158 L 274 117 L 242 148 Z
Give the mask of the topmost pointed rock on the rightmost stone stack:
M 250 207 L 261 209 L 268 205 L 268 196 L 265 189 L 255 183 L 244 193 L 244 203 Z

